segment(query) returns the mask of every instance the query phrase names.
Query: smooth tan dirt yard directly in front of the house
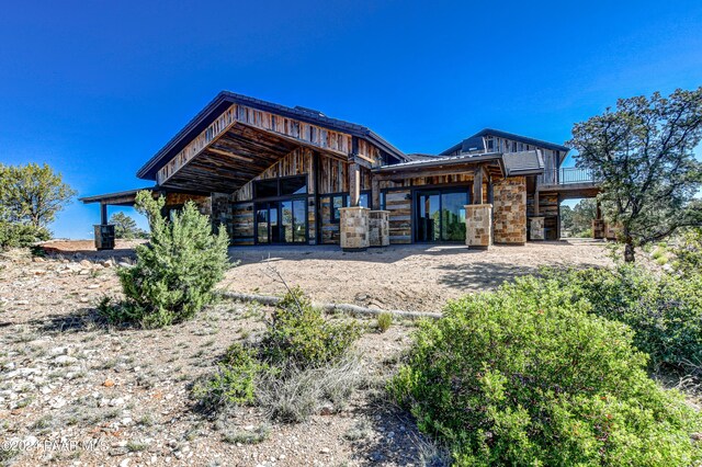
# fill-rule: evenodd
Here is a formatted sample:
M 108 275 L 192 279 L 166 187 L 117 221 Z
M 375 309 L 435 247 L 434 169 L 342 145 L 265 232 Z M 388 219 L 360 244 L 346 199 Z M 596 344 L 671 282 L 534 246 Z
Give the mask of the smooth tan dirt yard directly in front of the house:
M 533 242 L 494 246 L 393 246 L 365 252 L 338 247 L 233 248 L 233 267 L 222 287 L 280 294 L 301 286 L 320 303 L 349 303 L 381 309 L 440 311 L 446 299 L 495 287 L 543 265 L 607 266 L 601 242 Z M 280 274 L 280 276 L 279 276 Z

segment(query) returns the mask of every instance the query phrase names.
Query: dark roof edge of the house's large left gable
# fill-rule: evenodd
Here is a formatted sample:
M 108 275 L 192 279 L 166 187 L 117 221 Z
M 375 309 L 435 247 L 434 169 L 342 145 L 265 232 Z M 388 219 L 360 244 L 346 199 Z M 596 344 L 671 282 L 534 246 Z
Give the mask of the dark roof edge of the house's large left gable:
M 390 145 L 370 128 L 338 118 L 331 118 L 319 111 L 306 107 L 287 107 L 273 102 L 249 98 L 230 91 L 219 92 L 205 107 L 195 115 L 180 132 L 171 138 L 154 157 L 141 167 L 136 176 L 139 179 L 155 180 L 156 172 L 163 167 L 173 156 L 188 145 L 195 136 L 202 133 L 212 122 L 231 104 L 242 104 L 263 112 L 271 112 L 291 118 L 296 118 L 314 125 L 348 133 L 352 136 L 365 138 L 378 146 L 384 151 L 399 160 L 408 160 L 403 151 Z

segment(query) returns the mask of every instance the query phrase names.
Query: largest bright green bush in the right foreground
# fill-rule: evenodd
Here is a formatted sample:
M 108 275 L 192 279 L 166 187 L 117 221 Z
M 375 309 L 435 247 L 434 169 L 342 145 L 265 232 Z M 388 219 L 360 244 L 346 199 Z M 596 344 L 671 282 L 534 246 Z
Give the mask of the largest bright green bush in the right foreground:
M 693 465 L 699 415 L 648 378 L 632 334 L 520 278 L 422 321 L 388 390 L 456 465 Z

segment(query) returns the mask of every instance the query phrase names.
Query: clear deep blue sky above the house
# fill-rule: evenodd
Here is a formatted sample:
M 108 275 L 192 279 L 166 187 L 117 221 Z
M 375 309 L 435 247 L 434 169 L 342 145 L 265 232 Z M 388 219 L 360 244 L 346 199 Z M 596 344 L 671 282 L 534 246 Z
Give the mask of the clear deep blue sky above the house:
M 407 152 L 483 127 L 563 143 L 616 98 L 702 84 L 700 31 L 699 0 L 5 2 L 0 162 L 48 162 L 81 196 L 146 186 L 136 170 L 223 89 Z M 75 202 L 52 228 L 98 220 Z

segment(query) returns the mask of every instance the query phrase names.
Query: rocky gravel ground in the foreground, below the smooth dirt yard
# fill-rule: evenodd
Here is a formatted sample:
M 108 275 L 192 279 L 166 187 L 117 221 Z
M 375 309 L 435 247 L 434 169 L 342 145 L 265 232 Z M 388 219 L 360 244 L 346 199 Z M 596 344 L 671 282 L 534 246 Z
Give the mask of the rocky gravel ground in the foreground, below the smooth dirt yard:
M 431 448 L 380 390 L 411 322 L 380 333 L 363 321 L 355 352 L 369 386 L 340 411 L 302 424 L 257 408 L 213 419 L 195 410 L 191 384 L 231 342 L 259 339 L 270 309 L 223 301 L 168 329 L 116 329 L 94 311 L 118 295 L 114 271 L 82 255 L 0 257 L 0 465 L 404 466 Z M 264 441 L 236 441 L 258 430 Z

